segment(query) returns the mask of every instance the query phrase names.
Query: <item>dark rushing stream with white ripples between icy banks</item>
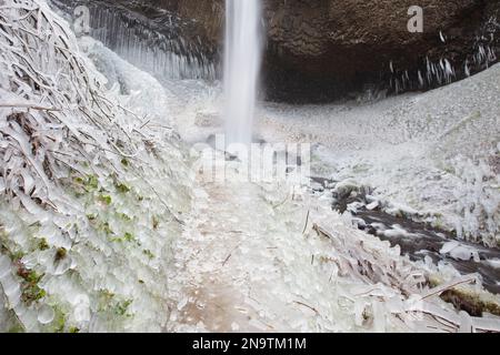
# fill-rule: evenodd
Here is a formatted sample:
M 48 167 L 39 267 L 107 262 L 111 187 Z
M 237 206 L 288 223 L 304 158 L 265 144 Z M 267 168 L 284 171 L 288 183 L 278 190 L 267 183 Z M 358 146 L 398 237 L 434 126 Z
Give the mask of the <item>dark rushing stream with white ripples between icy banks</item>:
M 324 179 L 312 179 L 320 185 L 317 191 L 334 190 L 334 182 Z M 369 200 L 369 199 L 368 199 Z M 474 243 L 457 240 L 449 231 L 422 222 L 412 221 L 406 216 L 394 216 L 382 211 L 377 202 L 367 201 L 367 195 L 347 195 L 337 199 L 333 210 L 351 213 L 354 224 L 364 231 L 398 245 L 401 254 L 408 254 L 413 261 L 424 261 L 430 257 L 434 264 L 450 263 L 461 274 L 479 273 L 484 287 L 494 294 L 500 294 L 500 248 L 486 247 Z M 450 251 L 460 247 L 460 253 L 450 255 Z

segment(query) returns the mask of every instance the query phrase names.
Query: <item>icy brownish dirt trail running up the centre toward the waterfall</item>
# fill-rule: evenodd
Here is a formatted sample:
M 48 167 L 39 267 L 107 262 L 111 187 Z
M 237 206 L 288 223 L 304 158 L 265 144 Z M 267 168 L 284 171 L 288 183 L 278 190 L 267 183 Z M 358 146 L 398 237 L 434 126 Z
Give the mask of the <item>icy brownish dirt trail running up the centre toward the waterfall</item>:
M 269 329 L 250 325 L 259 317 L 244 305 L 247 295 L 239 287 L 247 282 L 237 263 L 242 257 L 241 247 L 252 234 L 247 229 L 252 222 L 248 211 L 248 203 L 254 202 L 251 192 L 243 189 L 234 195 L 223 185 L 204 187 L 208 195 L 198 196 L 194 203 L 202 205 L 198 216 L 203 219 L 181 241 L 184 260 L 179 271 L 190 280 L 182 291 L 177 323 L 211 332 Z

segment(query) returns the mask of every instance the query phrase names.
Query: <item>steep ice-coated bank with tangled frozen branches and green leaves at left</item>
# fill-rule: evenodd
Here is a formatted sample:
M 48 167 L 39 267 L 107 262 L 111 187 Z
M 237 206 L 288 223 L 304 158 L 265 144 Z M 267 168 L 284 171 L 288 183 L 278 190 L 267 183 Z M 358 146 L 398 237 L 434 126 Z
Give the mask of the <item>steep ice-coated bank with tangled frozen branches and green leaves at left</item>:
M 164 91 L 87 41 L 134 77 L 104 90 L 44 1 L 3 1 L 0 20 L 0 331 L 161 331 L 191 199 Z

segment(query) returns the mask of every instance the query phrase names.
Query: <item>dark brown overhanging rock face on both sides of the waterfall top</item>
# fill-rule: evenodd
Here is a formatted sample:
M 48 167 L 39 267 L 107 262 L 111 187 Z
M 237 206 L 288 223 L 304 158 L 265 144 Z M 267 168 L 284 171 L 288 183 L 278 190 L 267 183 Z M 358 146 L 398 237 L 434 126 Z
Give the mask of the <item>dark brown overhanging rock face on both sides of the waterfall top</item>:
M 224 0 L 113 2 L 151 19 L 174 13 L 184 23 L 178 28 L 183 48 L 220 62 Z M 427 90 L 497 61 L 500 0 L 417 2 L 423 33 L 408 31 L 414 0 L 263 0 L 268 99 L 313 102 L 367 89 Z

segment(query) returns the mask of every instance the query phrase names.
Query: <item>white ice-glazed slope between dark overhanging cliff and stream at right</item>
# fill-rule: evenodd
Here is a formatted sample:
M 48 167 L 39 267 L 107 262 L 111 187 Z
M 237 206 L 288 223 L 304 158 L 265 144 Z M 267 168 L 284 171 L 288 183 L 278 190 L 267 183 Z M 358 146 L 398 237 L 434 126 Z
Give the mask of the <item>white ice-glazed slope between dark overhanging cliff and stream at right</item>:
M 496 245 L 500 235 L 500 67 L 422 94 L 268 105 L 262 136 L 318 143 L 316 174 L 373 187 L 392 211 Z M 420 216 L 419 216 L 420 215 Z

